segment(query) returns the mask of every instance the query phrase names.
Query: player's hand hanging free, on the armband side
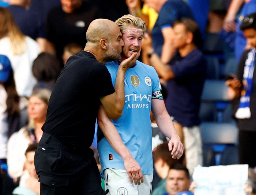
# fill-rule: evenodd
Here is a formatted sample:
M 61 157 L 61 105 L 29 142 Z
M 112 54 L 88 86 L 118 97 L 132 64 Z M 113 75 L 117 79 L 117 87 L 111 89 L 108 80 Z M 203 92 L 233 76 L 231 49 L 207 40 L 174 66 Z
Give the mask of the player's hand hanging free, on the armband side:
M 169 141 L 169 151 L 172 151 L 172 158 L 173 159 L 180 159 L 180 157 L 183 155 L 184 147 L 180 141 L 180 137 L 172 136 L 172 138 Z

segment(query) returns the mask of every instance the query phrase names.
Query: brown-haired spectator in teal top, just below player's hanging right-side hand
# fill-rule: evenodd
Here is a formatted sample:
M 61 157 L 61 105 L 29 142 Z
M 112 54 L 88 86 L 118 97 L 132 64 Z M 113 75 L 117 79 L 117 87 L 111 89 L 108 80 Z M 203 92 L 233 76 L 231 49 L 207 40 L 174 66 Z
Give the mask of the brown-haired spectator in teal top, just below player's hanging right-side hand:
M 159 195 L 166 193 L 166 178 L 168 171 L 176 164 L 183 164 L 184 155 L 180 159 L 173 159 L 168 150 L 168 142 L 158 145 L 153 151 L 154 167 L 157 175 L 161 178 L 157 186 L 152 191 L 152 195 Z M 153 178 L 154 183 L 155 176 Z

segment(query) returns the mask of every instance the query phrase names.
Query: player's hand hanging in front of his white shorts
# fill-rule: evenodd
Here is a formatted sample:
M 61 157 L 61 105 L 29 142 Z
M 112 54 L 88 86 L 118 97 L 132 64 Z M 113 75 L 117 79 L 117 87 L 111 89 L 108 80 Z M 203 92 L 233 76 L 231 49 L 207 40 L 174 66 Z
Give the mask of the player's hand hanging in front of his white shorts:
M 135 185 L 140 185 L 141 183 L 143 183 L 143 174 L 137 161 L 132 156 L 123 160 L 124 168 L 129 175 L 131 183 L 133 183 L 133 181 Z

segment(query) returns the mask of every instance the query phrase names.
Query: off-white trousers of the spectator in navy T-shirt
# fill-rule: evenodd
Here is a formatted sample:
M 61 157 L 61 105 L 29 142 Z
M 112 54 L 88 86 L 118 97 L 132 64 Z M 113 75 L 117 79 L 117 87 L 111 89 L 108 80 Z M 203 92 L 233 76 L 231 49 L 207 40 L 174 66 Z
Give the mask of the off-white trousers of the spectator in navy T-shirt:
M 199 126 L 183 127 L 186 167 L 192 175 L 197 165 L 203 165 L 202 138 Z

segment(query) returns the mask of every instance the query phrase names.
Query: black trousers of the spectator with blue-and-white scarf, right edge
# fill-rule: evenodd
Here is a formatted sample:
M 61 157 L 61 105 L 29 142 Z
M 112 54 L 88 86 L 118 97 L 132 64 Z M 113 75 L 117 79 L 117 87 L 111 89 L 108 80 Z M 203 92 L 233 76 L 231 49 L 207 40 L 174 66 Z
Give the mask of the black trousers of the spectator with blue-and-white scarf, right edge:
M 256 132 L 239 131 L 239 163 L 256 166 Z

